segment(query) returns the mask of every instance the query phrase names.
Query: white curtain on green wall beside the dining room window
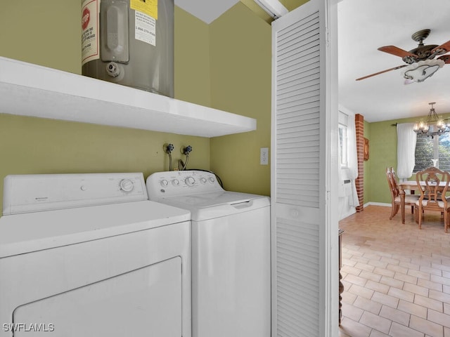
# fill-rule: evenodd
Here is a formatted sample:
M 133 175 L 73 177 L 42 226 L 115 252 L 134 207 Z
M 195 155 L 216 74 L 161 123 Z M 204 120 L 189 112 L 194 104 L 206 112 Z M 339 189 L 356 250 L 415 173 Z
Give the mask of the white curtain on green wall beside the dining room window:
M 410 178 L 416 164 L 417 135 L 413 126 L 413 123 L 397 124 L 397 176 L 400 179 Z

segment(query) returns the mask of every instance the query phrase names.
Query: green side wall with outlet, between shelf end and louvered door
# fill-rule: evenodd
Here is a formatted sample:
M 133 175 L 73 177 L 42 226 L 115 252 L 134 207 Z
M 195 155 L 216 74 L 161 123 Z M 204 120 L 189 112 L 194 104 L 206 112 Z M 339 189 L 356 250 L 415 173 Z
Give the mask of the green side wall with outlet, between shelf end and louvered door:
M 210 25 L 212 105 L 257 119 L 257 131 L 211 138 L 211 169 L 227 190 L 270 195 L 271 26 L 238 3 Z

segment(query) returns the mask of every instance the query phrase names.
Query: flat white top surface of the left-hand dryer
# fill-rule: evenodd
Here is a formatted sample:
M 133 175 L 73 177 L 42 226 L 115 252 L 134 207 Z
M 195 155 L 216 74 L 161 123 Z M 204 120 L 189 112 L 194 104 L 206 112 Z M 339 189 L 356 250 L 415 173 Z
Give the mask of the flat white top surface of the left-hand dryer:
M 0 258 L 190 220 L 185 209 L 135 201 L 0 218 Z

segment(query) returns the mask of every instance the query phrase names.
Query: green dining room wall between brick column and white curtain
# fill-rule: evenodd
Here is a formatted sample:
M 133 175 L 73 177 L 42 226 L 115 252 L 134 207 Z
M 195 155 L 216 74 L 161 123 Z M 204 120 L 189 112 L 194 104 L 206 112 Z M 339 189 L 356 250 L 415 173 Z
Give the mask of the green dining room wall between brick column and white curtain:
M 449 114 L 443 114 L 444 118 Z M 364 163 L 364 202 L 391 202 L 386 168 L 397 169 L 397 128 L 395 123 L 413 123 L 423 117 L 364 123 L 364 136 L 370 140 L 370 158 Z M 366 127 L 367 126 L 367 127 Z M 366 175 L 366 171 L 368 174 Z M 410 179 L 414 179 L 414 176 Z

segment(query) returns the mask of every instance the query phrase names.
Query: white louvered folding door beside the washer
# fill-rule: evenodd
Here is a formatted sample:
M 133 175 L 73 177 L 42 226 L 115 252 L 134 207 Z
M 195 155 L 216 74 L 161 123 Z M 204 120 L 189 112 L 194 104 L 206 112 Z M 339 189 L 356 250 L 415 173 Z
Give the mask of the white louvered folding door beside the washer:
M 272 24 L 272 337 L 338 336 L 331 14 L 310 0 Z

